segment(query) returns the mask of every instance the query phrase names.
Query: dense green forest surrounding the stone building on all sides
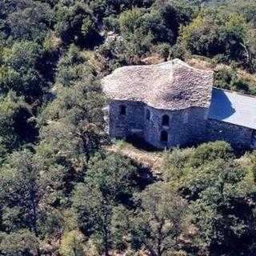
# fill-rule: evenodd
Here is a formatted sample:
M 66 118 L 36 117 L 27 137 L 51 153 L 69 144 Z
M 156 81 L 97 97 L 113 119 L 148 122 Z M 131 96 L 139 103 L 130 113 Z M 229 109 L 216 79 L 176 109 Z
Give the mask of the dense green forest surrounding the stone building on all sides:
M 256 152 L 107 150 L 101 78 L 173 58 L 256 95 L 256 2 L 0 0 L 1 256 L 256 255 Z

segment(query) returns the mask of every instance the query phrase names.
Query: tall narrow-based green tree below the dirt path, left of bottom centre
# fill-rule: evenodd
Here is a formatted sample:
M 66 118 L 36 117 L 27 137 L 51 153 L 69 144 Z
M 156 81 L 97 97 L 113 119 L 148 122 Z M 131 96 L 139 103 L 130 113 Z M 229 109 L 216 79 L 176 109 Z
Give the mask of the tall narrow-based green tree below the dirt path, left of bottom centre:
M 115 154 L 98 155 L 90 161 L 85 182 L 75 187 L 73 208 L 79 227 L 94 238 L 104 255 L 109 255 L 113 246 L 112 221 L 116 206 L 131 196 L 134 175 L 134 166 L 125 158 Z

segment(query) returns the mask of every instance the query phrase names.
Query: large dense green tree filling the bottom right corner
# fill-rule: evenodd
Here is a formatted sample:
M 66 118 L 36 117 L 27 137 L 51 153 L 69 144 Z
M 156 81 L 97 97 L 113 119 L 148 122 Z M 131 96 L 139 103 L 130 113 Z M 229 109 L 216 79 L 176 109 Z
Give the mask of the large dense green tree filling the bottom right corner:
M 191 210 L 199 248 L 210 255 L 251 254 L 256 232 L 250 193 L 254 194 L 255 184 L 246 170 L 235 162 L 217 160 L 187 179 L 190 185 L 186 188 L 194 194 L 190 196 Z

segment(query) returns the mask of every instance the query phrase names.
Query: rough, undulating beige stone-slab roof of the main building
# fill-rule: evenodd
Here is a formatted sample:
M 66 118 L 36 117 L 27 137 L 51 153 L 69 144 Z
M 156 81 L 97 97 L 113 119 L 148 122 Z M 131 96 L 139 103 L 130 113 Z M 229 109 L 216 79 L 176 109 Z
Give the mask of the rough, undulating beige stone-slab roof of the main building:
M 124 66 L 102 79 L 110 99 L 145 102 L 164 110 L 209 107 L 213 72 L 179 59 L 150 66 Z

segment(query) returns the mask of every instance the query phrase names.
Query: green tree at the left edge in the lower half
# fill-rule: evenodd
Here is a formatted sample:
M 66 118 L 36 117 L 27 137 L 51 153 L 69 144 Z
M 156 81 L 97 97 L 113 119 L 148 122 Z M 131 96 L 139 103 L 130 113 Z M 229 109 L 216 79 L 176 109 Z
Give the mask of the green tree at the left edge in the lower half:
M 25 228 L 38 234 L 43 190 L 33 154 L 28 150 L 11 154 L 2 166 L 0 183 L 1 229 L 10 232 Z

